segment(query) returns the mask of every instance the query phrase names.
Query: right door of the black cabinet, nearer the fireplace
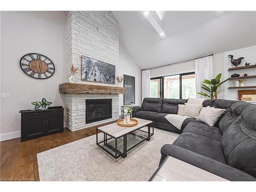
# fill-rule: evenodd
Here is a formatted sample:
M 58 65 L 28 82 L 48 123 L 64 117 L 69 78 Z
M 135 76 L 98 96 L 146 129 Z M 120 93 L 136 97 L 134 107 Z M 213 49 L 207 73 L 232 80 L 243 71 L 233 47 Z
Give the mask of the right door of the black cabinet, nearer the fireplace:
M 61 111 L 52 111 L 46 116 L 46 132 L 55 133 L 63 130 Z

